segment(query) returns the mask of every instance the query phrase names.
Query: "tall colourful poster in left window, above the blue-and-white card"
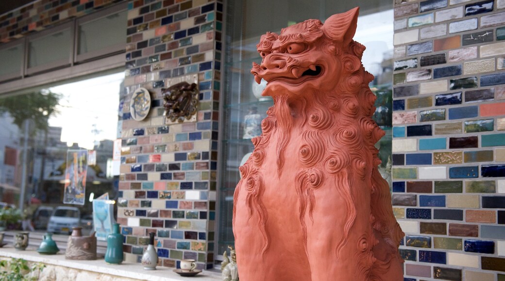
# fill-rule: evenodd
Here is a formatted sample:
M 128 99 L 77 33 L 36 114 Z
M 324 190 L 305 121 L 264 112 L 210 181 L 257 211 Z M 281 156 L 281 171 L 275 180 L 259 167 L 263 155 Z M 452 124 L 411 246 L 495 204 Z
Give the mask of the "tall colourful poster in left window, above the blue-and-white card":
M 69 150 L 65 169 L 65 192 L 63 203 L 84 205 L 88 151 Z

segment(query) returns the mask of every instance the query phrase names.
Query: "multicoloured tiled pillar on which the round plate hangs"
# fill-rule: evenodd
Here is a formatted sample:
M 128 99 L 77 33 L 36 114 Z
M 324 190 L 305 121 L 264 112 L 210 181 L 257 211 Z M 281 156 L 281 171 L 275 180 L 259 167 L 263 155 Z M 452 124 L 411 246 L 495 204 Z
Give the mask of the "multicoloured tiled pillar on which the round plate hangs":
M 156 232 L 160 265 L 196 259 L 213 266 L 218 108 L 221 67 L 220 1 L 128 3 L 118 222 L 128 261 L 139 261 Z M 167 124 L 161 89 L 185 75 L 198 77 L 196 122 Z M 149 90 L 148 117 L 131 119 L 135 89 Z

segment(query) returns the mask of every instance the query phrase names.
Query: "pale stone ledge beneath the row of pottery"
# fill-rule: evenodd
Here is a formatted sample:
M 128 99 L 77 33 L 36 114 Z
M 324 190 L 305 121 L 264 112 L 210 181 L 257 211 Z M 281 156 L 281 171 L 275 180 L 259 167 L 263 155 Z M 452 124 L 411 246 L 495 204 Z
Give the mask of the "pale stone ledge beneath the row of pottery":
M 44 268 L 51 269 L 53 271 L 53 267 L 59 267 L 60 269 L 65 270 L 56 270 L 57 280 L 59 279 L 67 279 L 65 276 L 58 276 L 58 272 L 68 272 L 67 268 L 76 269 L 77 278 L 75 280 L 81 280 L 83 278 L 79 278 L 78 275 L 90 276 L 90 273 L 95 273 L 93 279 L 99 280 L 111 280 L 111 279 L 132 279 L 132 280 L 149 280 L 149 281 L 180 281 L 180 280 L 200 280 L 200 281 L 217 281 L 222 280 L 221 276 L 217 272 L 209 272 L 204 271 L 199 273 L 193 277 L 182 277 L 177 273 L 173 272 L 174 268 L 161 267 L 158 266 L 157 270 L 147 271 L 143 270 L 142 265 L 139 263 L 122 263 L 122 264 L 108 264 L 105 262 L 103 258 L 97 260 L 67 260 L 65 259 L 64 253 L 59 253 L 56 255 L 41 255 L 36 252 L 36 247 L 32 245 L 28 246 L 25 251 L 18 251 L 14 249 L 12 243 L 0 248 L 0 257 L 1 258 L 22 258 L 29 262 L 42 262 L 48 267 Z M 52 267 L 52 268 L 49 268 Z M 42 272 L 42 274 L 44 273 Z M 86 272 L 87 271 L 87 272 Z M 97 275 L 97 274 L 98 275 Z M 53 273 L 55 274 L 55 273 Z M 91 274 L 93 275 L 93 274 Z M 103 276 L 102 276 L 103 275 Z M 107 276 L 106 276 L 107 275 Z M 101 277 L 97 277 L 101 276 Z M 70 277 L 70 276 L 68 276 Z M 47 279 L 47 278 L 42 278 Z M 89 281 L 89 278 L 87 278 Z

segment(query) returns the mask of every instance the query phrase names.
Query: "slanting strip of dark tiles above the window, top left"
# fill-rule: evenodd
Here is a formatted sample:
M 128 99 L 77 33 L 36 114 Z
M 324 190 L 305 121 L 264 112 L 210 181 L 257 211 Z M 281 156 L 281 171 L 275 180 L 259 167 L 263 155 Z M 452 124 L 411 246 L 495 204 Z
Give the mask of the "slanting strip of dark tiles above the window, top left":
M 0 42 L 9 42 L 29 32 L 39 31 L 72 17 L 103 8 L 115 0 L 39 0 L 0 15 Z M 0 4 L 1 5 L 1 4 Z

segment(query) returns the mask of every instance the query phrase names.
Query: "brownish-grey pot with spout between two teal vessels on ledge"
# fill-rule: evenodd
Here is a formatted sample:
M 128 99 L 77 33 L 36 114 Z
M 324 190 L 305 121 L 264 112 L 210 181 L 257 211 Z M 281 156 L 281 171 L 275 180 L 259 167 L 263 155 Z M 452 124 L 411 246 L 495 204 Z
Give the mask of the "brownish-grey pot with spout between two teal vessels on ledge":
M 82 236 L 82 227 L 73 227 L 72 235 L 68 237 L 66 259 L 94 260 L 96 259 L 96 237 L 94 231 L 90 236 Z

